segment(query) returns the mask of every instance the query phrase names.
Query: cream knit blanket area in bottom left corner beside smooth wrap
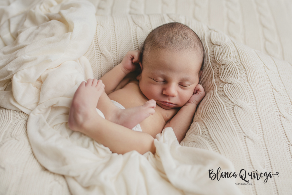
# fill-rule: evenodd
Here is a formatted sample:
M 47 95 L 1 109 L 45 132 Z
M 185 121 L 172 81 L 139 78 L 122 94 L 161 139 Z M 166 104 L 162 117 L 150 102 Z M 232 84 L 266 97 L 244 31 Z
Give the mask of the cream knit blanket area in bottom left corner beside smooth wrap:
M 0 107 L 0 194 L 70 194 L 65 178 L 34 157 L 26 132 L 28 115 Z

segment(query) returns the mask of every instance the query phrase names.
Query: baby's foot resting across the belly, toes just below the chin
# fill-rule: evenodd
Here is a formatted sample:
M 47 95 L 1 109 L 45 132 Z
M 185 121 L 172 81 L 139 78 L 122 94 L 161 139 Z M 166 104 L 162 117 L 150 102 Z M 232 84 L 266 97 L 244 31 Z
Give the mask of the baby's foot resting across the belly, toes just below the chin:
M 144 103 L 144 105 L 142 106 L 127 109 L 118 109 L 115 117 L 113 117 L 111 121 L 132 129 L 140 122 L 142 122 L 145 118 L 150 116 L 150 114 L 154 114 L 155 107 L 156 102 L 152 99 Z

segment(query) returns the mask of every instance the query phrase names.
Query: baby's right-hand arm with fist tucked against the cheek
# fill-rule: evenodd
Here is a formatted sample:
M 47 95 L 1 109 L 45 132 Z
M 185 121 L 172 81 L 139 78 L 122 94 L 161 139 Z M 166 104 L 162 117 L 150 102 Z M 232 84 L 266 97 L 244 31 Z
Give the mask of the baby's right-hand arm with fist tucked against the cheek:
M 195 87 L 194 94 L 189 101 L 180 108 L 178 113 L 169 120 L 164 128 L 172 127 L 178 142 L 181 142 L 190 128 L 196 108 L 205 96 L 205 91 L 202 85 L 198 84 Z

